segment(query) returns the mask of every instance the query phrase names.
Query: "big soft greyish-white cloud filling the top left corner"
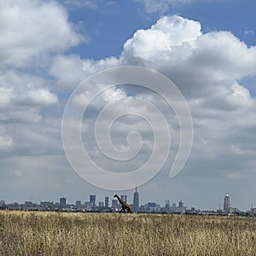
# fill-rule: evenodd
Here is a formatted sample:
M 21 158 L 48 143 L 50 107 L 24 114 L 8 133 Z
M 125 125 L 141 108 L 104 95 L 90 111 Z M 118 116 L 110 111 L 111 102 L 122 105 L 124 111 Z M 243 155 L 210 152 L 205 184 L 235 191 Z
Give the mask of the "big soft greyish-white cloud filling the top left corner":
M 85 41 L 56 2 L 1 1 L 0 9 L 1 66 L 44 65 L 50 53 Z

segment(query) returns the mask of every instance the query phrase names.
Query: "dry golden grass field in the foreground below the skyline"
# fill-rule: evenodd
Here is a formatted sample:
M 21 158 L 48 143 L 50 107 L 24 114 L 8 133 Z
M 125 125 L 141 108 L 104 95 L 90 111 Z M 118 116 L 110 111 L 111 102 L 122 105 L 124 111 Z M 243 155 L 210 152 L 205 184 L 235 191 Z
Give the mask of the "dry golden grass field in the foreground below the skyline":
M 1 211 L 0 255 L 256 255 L 256 218 Z

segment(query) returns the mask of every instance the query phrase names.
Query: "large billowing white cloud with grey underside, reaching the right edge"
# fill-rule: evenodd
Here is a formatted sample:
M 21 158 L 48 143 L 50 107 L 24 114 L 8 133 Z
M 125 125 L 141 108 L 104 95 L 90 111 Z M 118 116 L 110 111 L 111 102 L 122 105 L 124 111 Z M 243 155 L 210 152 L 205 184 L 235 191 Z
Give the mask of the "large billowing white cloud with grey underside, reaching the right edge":
M 225 97 L 237 80 L 256 74 L 256 47 L 247 47 L 230 32 L 203 34 L 199 22 L 177 15 L 137 31 L 122 57 L 125 64 L 164 73 L 188 97 Z

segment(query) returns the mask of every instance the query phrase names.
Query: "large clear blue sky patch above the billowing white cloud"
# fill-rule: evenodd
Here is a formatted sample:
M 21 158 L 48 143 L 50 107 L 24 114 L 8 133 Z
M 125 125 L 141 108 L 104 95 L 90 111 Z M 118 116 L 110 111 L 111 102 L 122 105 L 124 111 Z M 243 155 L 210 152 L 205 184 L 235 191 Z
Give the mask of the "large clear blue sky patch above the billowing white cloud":
M 175 2 L 175 1 L 174 1 Z M 142 3 L 116 1 L 113 4 L 99 1 L 96 9 L 70 9 L 70 20 L 83 21 L 84 31 L 91 38 L 90 44 L 72 49 L 86 58 L 102 59 L 119 55 L 122 45 L 140 28 L 148 28 L 162 15 L 182 15 L 200 20 L 202 31 L 227 30 L 233 32 L 247 45 L 254 45 L 255 1 L 197 1 L 182 5 L 170 5 L 164 13 L 145 13 Z M 87 26 L 88 25 L 88 26 Z M 102 42 L 106 44 L 102 45 Z

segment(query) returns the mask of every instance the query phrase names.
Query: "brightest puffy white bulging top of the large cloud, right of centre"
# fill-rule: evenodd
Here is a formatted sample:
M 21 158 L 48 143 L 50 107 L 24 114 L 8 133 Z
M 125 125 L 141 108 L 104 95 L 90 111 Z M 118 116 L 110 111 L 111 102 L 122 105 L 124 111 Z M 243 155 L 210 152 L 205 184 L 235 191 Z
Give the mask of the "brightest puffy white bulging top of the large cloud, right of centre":
M 176 62 L 188 58 L 201 36 L 201 25 L 177 15 L 163 17 L 148 30 L 138 30 L 124 44 L 124 61 L 151 67 L 163 61 Z M 165 63 L 166 65 L 166 63 Z

